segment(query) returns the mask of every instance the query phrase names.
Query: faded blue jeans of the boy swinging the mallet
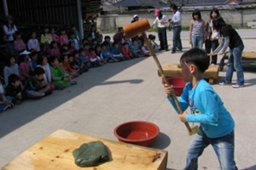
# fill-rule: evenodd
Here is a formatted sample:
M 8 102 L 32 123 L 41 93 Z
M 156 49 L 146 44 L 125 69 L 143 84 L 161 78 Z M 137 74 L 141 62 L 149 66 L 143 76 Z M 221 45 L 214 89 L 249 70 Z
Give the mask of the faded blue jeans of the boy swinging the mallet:
M 203 150 L 209 144 L 212 145 L 213 150 L 218 156 L 221 170 L 236 170 L 236 162 L 234 161 L 234 136 L 234 132 L 232 132 L 218 139 L 209 139 L 200 129 L 189 145 L 187 165 L 184 170 L 196 170 L 198 168 L 198 157 L 201 156 Z

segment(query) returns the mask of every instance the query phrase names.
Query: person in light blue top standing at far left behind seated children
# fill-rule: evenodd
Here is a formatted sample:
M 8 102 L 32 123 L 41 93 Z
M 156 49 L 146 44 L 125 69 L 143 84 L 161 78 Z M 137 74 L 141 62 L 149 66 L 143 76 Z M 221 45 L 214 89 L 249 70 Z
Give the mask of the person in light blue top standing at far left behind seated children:
M 13 23 L 12 16 L 6 16 L 6 23 L 3 25 L 3 41 L 6 43 L 9 54 L 12 55 L 15 55 L 15 31 L 17 31 L 17 28 Z

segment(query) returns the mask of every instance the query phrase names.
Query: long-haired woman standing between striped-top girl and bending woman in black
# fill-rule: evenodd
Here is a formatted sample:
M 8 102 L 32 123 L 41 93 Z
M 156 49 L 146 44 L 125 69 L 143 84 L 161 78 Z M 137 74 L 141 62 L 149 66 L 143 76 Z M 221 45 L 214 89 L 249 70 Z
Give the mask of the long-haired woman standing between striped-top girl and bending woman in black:
M 210 20 L 207 22 L 207 26 L 206 26 L 206 34 L 207 34 L 207 39 L 205 42 L 205 46 L 206 46 L 206 51 L 207 54 L 211 53 L 211 49 L 212 51 L 214 51 L 216 48 L 218 48 L 218 31 L 213 29 L 212 27 L 212 19 L 219 17 L 220 14 L 218 12 L 218 8 L 212 8 L 212 11 L 210 13 Z M 211 57 L 211 65 L 217 65 L 217 59 L 218 59 L 218 55 L 212 55 Z

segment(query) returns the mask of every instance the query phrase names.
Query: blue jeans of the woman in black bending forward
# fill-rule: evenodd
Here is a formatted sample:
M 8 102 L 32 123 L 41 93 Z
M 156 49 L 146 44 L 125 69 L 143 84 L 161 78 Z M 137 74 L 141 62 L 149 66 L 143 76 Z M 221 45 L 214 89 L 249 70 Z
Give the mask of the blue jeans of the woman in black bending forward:
M 243 85 L 244 84 L 244 77 L 243 77 L 243 69 L 241 65 L 241 54 L 244 46 L 241 44 L 240 46 L 230 49 L 230 56 L 228 60 L 228 68 L 226 71 L 226 77 L 224 82 L 231 83 L 233 72 L 236 71 L 236 84 Z

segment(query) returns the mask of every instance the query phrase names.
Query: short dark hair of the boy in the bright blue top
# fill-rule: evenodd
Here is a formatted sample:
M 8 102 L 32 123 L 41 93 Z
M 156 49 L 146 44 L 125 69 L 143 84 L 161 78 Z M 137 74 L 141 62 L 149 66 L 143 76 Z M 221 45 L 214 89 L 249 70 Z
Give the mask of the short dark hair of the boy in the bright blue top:
M 196 65 L 197 69 L 202 73 L 208 69 L 210 63 L 210 58 L 207 56 L 207 53 L 200 48 L 189 49 L 189 51 L 186 51 L 181 56 L 180 60 Z

